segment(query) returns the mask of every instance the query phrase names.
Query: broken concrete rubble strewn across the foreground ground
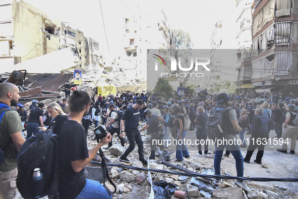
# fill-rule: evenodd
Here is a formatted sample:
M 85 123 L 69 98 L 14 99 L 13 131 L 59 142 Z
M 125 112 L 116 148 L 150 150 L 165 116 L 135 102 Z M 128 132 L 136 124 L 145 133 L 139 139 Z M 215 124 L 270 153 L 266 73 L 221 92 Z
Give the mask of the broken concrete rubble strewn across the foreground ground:
M 143 126 L 140 123 L 140 126 Z M 89 129 L 88 133 L 88 146 L 91 148 L 96 144 L 94 141 L 94 133 Z M 114 134 L 116 135 L 116 134 Z M 149 135 L 146 132 L 141 132 L 141 136 L 143 141 L 149 138 Z M 123 163 L 118 161 L 118 158 L 123 154 L 125 149 L 128 147 L 128 141 L 125 142 L 125 147 L 121 146 L 120 140 L 115 137 L 113 140 L 113 146 L 109 148 L 109 150 L 103 150 L 106 158 L 108 158 L 112 163 L 122 164 L 127 166 L 134 167 L 143 167 L 142 163 L 138 160 L 138 148 L 136 145 L 135 150 L 128 156 L 128 159 L 131 163 Z M 148 150 L 148 144 L 144 142 L 144 155 L 148 157 L 150 155 L 150 151 Z M 175 152 L 174 146 L 170 146 L 167 150 Z M 159 164 L 160 157 L 157 157 L 158 153 L 156 153 L 155 161 L 150 161 L 150 169 L 160 169 L 164 171 L 173 171 L 173 172 L 182 172 L 176 168 Z M 211 174 L 213 170 L 213 158 L 214 154 L 210 152 L 208 154 L 209 158 L 199 158 L 194 155 L 191 156 L 190 159 L 184 159 L 182 163 L 173 163 L 175 160 L 175 153 L 170 155 L 171 164 L 182 167 L 189 171 L 201 173 L 201 174 Z M 231 161 L 231 159 L 227 159 L 227 161 Z M 232 163 L 234 164 L 234 162 Z M 230 170 L 230 167 L 222 168 L 221 175 L 234 175 L 234 171 Z M 265 169 L 265 168 L 263 168 Z M 213 175 L 211 174 L 211 175 Z M 149 182 L 148 173 L 144 171 L 137 170 L 128 170 L 126 168 L 118 168 L 112 167 L 109 173 L 111 179 L 115 183 L 117 190 L 113 195 L 113 199 L 116 198 L 149 198 L 151 184 Z M 176 186 L 177 193 L 184 193 L 185 198 L 250 198 L 250 199 L 269 199 L 269 198 L 292 198 L 289 196 L 290 193 L 287 190 L 287 187 L 275 184 L 274 187 L 266 187 L 255 185 L 254 182 L 247 181 L 247 185 L 252 189 L 250 192 L 244 191 L 242 188 L 237 187 L 235 185 L 235 180 L 226 180 L 219 186 L 215 186 L 213 184 L 213 179 L 204 179 L 201 180 L 199 177 L 188 177 L 188 176 L 179 176 L 174 174 L 167 173 L 159 173 L 159 172 L 151 172 L 152 180 L 154 182 L 165 181 L 165 183 L 171 183 Z M 209 183 L 208 183 L 209 182 Z M 107 183 L 108 184 L 108 183 Z M 280 183 L 281 184 L 281 183 Z M 107 185 L 113 190 L 111 185 Z M 176 193 L 175 193 L 176 194 Z M 291 193 L 292 194 L 292 193 Z M 183 195 L 183 194 L 182 194 Z M 156 196 L 156 193 L 155 193 Z M 178 198 L 179 194 L 174 196 L 171 195 L 171 198 Z M 183 198 L 183 196 L 181 197 Z

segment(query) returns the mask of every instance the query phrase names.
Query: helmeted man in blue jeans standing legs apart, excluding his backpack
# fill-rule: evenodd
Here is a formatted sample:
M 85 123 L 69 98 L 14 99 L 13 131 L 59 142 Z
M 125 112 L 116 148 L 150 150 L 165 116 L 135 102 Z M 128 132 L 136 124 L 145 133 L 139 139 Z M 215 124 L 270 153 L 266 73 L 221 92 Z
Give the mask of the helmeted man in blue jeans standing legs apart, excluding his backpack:
M 235 131 L 242 131 L 242 128 L 237 123 L 236 112 L 233 109 L 227 108 L 227 102 L 229 101 L 229 95 L 226 93 L 220 93 L 216 95 L 216 103 L 218 106 L 213 108 L 213 114 L 221 113 L 222 115 L 222 133 L 223 138 L 226 140 L 234 140 L 236 139 Z M 214 113 L 216 112 L 216 113 Z M 210 118 L 212 115 L 210 116 Z M 219 139 L 221 139 L 220 137 Z M 217 142 L 218 143 L 218 142 Z M 243 166 L 243 156 L 241 154 L 239 145 L 236 142 L 233 144 L 223 143 L 221 145 L 217 145 L 215 143 L 215 157 L 214 157 L 214 172 L 215 175 L 220 175 L 220 162 L 223 154 L 224 148 L 228 150 L 234 157 L 236 163 L 237 177 L 243 177 L 244 166 Z M 222 182 L 222 179 L 216 178 L 214 180 L 214 184 L 218 186 Z M 237 180 L 235 182 L 237 186 L 242 187 L 246 191 L 251 191 L 251 189 L 245 184 L 243 180 Z

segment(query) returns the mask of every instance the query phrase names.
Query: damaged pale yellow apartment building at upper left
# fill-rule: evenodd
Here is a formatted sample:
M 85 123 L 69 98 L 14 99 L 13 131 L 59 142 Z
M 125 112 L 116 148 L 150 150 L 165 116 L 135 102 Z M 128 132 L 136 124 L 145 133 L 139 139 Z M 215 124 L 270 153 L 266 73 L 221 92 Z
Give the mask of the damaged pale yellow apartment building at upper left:
M 22 0 L 0 1 L 0 13 L 1 72 L 59 49 L 61 22 Z

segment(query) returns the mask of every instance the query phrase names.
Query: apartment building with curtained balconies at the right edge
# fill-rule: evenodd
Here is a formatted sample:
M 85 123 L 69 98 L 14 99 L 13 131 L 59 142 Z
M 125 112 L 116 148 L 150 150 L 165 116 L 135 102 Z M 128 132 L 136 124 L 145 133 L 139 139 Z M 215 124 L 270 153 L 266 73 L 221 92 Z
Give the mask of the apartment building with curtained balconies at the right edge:
M 252 77 L 257 91 L 294 93 L 298 85 L 298 0 L 255 0 Z

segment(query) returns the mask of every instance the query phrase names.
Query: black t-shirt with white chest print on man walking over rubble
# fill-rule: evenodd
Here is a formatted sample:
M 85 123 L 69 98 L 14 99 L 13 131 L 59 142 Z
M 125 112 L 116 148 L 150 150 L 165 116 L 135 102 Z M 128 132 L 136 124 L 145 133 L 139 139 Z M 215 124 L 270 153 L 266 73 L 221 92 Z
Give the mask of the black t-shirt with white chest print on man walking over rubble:
M 122 120 L 125 120 L 125 132 L 129 130 L 138 130 L 140 119 L 140 110 L 129 107 L 125 110 Z

